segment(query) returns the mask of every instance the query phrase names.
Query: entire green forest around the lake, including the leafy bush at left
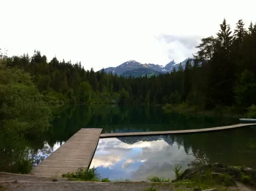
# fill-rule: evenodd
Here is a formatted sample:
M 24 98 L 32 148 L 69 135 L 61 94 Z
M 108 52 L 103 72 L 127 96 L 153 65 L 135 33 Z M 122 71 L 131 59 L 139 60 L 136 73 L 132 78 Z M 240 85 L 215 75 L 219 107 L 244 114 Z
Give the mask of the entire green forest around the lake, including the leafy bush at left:
M 249 108 L 248 116 L 256 117 L 256 24 L 246 29 L 240 19 L 232 32 L 224 19 L 216 35 L 196 47 L 193 65 L 188 59 L 170 73 L 135 78 L 85 70 L 56 57 L 48 61 L 40 51 L 31 57 L 1 52 L 0 170 L 26 172 L 20 166 L 29 162 L 19 151 L 26 150 L 29 137 L 48 129 L 51 110 L 61 104 L 169 103 L 242 114 Z

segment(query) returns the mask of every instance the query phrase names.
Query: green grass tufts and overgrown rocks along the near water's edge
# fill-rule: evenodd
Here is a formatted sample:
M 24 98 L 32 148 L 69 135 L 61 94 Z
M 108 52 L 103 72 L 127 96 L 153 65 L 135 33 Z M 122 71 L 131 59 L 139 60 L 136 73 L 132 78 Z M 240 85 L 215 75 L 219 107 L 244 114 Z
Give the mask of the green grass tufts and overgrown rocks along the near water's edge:
M 209 164 L 216 165 L 216 164 Z M 203 165 L 201 166 L 203 167 Z M 239 169 L 238 167 L 235 167 Z M 196 169 L 196 168 L 195 168 Z M 158 190 L 159 188 L 171 188 L 173 190 L 192 190 L 195 187 L 199 189 L 210 189 L 217 188 L 217 190 L 229 190 L 230 187 L 235 188 L 236 183 L 233 180 L 233 177 L 228 173 L 215 173 L 214 170 L 218 168 L 215 167 L 206 167 L 205 173 L 198 173 L 191 176 L 189 179 L 182 179 L 183 170 L 181 166 L 175 165 L 173 171 L 175 172 L 175 179 L 170 180 L 164 176 L 152 175 L 146 180 L 147 182 L 152 182 L 151 187 L 148 187 L 144 190 Z M 185 172 L 184 172 L 185 173 Z M 129 179 L 115 179 L 110 180 L 108 177 L 100 177 L 97 173 L 96 168 L 83 170 L 79 168 L 76 172 L 71 172 L 63 174 L 63 177 L 67 177 L 70 181 L 101 181 L 101 182 L 113 182 L 113 181 L 130 181 Z M 248 175 L 247 175 L 248 176 Z M 246 180 L 250 179 L 250 176 L 245 176 L 244 173 L 241 173 L 241 182 L 244 184 L 251 185 L 251 182 Z

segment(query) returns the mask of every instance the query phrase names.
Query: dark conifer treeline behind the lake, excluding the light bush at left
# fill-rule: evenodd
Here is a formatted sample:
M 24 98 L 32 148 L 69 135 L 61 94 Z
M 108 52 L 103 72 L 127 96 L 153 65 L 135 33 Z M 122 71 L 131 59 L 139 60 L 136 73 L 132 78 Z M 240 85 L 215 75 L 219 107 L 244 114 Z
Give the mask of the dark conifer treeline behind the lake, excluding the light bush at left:
M 224 19 L 216 36 L 201 39 L 194 54 L 170 73 L 125 78 L 104 70 L 85 70 L 80 63 L 47 61 L 35 51 L 5 59 L 33 76 L 38 90 L 65 103 L 178 104 L 202 109 L 256 102 L 256 24 L 244 28 L 240 19 L 232 32 Z M 200 64 L 198 64 L 200 63 Z

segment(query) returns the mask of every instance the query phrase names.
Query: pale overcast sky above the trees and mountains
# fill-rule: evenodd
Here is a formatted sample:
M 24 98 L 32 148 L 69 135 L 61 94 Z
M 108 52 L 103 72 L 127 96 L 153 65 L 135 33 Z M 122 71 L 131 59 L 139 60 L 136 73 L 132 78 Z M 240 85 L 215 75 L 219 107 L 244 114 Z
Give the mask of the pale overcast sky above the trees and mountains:
M 256 21 L 255 0 L 0 0 L 0 48 L 8 55 L 81 61 L 89 69 L 134 59 L 165 65 L 196 51 L 225 17 Z

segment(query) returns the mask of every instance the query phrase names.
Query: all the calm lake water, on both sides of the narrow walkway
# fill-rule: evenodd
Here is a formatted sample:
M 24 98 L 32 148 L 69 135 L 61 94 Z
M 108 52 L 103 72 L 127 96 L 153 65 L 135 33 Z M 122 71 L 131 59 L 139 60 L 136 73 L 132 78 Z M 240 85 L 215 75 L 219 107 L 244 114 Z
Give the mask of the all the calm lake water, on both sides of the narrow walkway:
M 238 119 L 167 113 L 161 106 L 93 105 L 56 110 L 45 133 L 39 160 L 47 157 L 81 127 L 103 126 L 102 133 L 207 128 L 239 123 Z M 90 167 L 102 177 L 146 180 L 150 175 L 172 179 L 175 164 L 220 162 L 256 168 L 256 126 L 215 132 L 99 139 Z

